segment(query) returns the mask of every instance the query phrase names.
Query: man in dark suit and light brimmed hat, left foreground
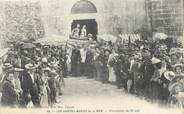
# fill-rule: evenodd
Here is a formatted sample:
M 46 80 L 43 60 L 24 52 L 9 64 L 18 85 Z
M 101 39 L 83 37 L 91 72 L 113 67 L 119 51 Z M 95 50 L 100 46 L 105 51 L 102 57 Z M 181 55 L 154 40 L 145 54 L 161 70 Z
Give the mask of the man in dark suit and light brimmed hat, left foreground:
M 40 107 L 40 100 L 39 100 L 40 87 L 38 81 L 39 78 L 34 73 L 35 66 L 33 64 L 26 64 L 25 68 L 26 72 L 23 74 L 21 80 L 25 105 L 27 105 L 29 102 L 28 96 L 31 96 L 31 100 L 34 104 L 34 107 Z

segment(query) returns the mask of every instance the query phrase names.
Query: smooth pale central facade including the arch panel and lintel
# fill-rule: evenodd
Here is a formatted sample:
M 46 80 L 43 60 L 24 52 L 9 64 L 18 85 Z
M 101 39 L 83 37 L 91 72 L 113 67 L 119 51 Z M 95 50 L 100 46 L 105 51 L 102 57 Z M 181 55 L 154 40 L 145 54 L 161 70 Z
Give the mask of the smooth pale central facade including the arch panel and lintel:
M 56 33 L 63 31 L 69 34 L 72 22 L 75 20 L 94 19 L 97 22 L 98 34 L 114 33 L 118 29 L 119 32 L 133 33 L 146 24 L 144 0 L 61 0 L 55 2 L 52 0 L 45 4 L 45 8 L 51 8 L 50 12 L 54 12 L 47 18 L 48 26 L 52 28 L 53 23 L 61 26 L 57 28 L 59 31 L 54 31 Z M 53 27 L 52 30 L 54 29 Z

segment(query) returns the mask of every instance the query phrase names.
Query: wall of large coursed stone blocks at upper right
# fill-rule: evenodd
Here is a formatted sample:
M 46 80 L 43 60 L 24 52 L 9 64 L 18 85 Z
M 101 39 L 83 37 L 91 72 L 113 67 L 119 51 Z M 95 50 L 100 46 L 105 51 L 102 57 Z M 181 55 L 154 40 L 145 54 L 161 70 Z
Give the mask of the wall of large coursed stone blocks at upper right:
M 147 14 L 153 31 L 165 32 L 180 41 L 184 29 L 183 0 L 146 0 Z

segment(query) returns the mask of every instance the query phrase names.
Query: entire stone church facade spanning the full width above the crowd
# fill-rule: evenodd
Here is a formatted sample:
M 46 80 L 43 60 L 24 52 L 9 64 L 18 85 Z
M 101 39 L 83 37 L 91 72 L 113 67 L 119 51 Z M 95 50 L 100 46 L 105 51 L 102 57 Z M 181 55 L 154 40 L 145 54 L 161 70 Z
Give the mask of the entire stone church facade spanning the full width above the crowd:
M 146 27 L 183 36 L 182 0 L 16 0 L 0 3 L 0 39 L 68 38 L 77 23 L 97 35 L 135 33 Z M 18 29 L 18 30 L 17 30 Z

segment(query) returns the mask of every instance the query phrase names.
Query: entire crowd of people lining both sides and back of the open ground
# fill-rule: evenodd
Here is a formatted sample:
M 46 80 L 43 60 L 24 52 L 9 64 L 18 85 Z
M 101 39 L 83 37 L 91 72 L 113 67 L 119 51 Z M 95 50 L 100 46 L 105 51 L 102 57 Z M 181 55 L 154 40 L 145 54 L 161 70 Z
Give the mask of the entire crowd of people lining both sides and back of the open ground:
M 62 46 L 28 43 L 11 46 L 3 63 L 4 106 L 53 106 L 63 94 L 64 78 L 86 76 L 112 84 L 151 102 L 180 104 L 184 92 L 183 47 L 165 40 L 66 43 Z M 123 93 L 122 93 L 123 94 Z M 181 96 L 181 95 L 180 95 Z

